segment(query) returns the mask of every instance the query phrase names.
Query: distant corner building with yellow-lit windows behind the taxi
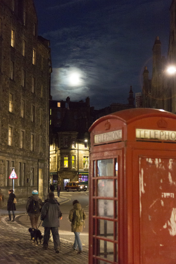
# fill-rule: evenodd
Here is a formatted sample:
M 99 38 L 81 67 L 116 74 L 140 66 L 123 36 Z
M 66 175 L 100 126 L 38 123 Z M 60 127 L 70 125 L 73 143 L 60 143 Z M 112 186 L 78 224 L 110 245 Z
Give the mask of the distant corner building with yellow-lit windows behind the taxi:
M 89 97 L 79 102 L 50 100 L 50 183 L 88 180 Z

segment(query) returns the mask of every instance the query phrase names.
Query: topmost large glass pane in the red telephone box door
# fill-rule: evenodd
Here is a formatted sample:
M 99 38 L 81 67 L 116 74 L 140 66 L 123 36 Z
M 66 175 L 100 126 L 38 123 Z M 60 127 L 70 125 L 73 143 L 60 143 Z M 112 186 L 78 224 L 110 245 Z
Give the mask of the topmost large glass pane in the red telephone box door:
M 97 161 L 97 176 L 114 176 L 113 159 L 101 159 Z

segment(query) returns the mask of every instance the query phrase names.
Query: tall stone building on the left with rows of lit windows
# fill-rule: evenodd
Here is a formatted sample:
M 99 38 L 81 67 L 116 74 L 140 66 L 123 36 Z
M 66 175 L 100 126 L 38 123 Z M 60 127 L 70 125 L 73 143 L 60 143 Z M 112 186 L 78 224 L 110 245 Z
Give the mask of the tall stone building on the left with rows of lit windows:
M 46 197 L 49 178 L 50 42 L 37 35 L 33 0 L 0 1 L 0 188 L 17 201 Z M 12 168 L 18 179 L 9 179 Z

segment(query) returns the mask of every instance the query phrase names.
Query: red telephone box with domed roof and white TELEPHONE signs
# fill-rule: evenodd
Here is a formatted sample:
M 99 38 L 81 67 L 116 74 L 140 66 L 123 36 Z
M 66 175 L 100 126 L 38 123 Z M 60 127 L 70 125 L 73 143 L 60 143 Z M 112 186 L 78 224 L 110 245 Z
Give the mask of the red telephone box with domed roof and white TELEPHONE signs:
M 175 264 L 176 115 L 128 109 L 89 132 L 89 264 Z

